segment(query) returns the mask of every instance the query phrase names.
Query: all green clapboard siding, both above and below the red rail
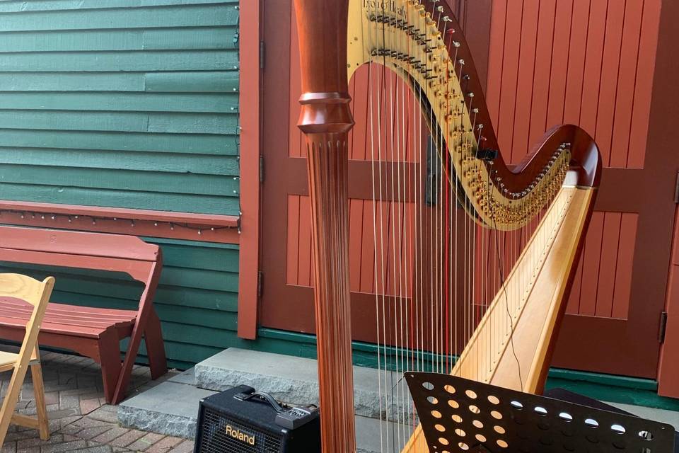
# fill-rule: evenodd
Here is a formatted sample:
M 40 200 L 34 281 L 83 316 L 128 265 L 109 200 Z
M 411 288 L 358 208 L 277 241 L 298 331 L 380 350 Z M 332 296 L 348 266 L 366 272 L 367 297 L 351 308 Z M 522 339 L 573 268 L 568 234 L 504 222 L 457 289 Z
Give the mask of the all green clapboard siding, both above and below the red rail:
M 238 214 L 238 80 L 238 0 L 1 0 L 0 200 Z M 144 239 L 170 366 L 245 347 L 238 246 Z M 141 296 L 122 273 L 6 271 L 54 275 L 57 303 Z

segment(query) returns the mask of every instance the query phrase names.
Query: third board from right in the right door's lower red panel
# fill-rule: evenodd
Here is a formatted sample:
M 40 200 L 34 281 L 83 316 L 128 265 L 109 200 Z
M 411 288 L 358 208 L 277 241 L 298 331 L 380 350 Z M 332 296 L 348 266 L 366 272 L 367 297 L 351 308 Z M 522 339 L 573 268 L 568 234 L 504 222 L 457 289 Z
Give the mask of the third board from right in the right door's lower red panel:
M 596 312 L 596 289 L 603 236 L 603 212 L 594 212 L 587 231 L 580 287 L 579 313 L 594 316 Z

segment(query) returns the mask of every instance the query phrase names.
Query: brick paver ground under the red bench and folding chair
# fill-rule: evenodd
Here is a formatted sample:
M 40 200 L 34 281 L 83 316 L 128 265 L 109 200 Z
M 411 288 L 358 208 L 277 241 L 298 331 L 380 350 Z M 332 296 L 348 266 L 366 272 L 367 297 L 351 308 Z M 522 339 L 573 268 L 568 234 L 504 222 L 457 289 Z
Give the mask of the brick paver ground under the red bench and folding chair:
M 16 349 L 0 346 L 0 350 Z M 151 382 L 148 367 L 135 367 L 129 396 L 163 382 L 176 372 Z M 52 437 L 40 440 L 37 430 L 12 425 L 0 453 L 189 453 L 191 440 L 122 428 L 117 424 L 116 406 L 106 404 L 99 365 L 87 357 L 42 352 L 42 374 Z M 4 396 L 11 372 L 0 373 Z M 35 415 L 30 373 L 21 391 L 18 411 Z

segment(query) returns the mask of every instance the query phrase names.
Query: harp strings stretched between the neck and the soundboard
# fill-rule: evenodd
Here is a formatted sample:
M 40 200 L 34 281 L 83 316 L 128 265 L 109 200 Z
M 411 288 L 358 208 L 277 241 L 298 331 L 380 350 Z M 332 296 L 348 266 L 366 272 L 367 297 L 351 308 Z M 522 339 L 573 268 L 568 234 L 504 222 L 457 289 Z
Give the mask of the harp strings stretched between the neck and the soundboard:
M 454 68 L 454 73 L 447 74 L 447 81 L 460 81 L 466 96 L 465 67 L 458 61 L 455 46 L 457 30 L 448 28 L 437 1 L 421 3 L 436 23 L 443 23 L 443 42 L 451 52 Z M 466 11 L 462 7 L 465 3 L 459 2 L 458 12 Z M 374 16 L 389 16 L 390 11 L 385 9 L 388 2 L 368 4 L 373 5 Z M 417 45 L 405 34 L 390 33 L 388 24 L 366 30 L 369 35 L 363 38 L 374 48 L 406 46 L 409 55 L 419 55 L 430 64 L 421 48 L 412 48 Z M 468 107 L 471 130 L 464 129 L 463 115 L 437 125 L 429 105 L 429 99 L 434 98 L 431 88 L 428 84 L 419 86 L 414 79 L 407 84 L 407 74 L 397 71 L 390 67 L 386 55 L 373 57 L 359 72 L 367 77 L 366 93 L 356 88 L 354 95 L 366 99 L 364 139 L 356 140 L 359 123 L 354 127 L 354 147 L 364 147 L 364 159 L 371 161 L 372 200 L 364 203 L 362 212 L 371 216 L 372 231 L 363 232 L 361 250 L 366 253 L 364 248 L 373 248 L 368 253 L 372 253 L 377 315 L 380 442 L 385 452 L 400 451 L 417 425 L 412 400 L 401 379 L 403 372 L 455 369 L 460 374 L 461 367 L 455 367 L 458 355 L 492 300 L 503 292 L 507 316 L 489 318 L 487 334 L 477 338 L 478 353 L 470 359 L 472 365 L 468 367 L 473 370 L 468 377 L 483 379 L 492 369 L 494 345 L 501 343 L 503 332 L 512 328 L 506 324 L 511 323 L 511 314 L 517 309 L 521 288 L 530 282 L 526 269 L 535 269 L 535 258 L 529 258 L 531 264 L 519 275 L 518 284 L 507 287 L 506 274 L 542 218 L 540 213 L 521 229 L 498 231 L 480 226 L 467 214 L 473 208 L 468 197 L 458 193 L 458 183 L 451 175 L 453 150 L 447 148 L 446 137 L 451 129 L 460 130 L 462 146 L 480 142 L 482 129 L 477 127 L 473 99 Z M 454 86 L 446 85 L 448 89 Z M 456 109 L 465 111 L 464 105 Z M 482 165 L 477 162 L 476 168 Z M 488 195 L 493 190 L 497 188 L 489 184 Z M 546 243 L 547 238 L 538 239 Z M 517 372 L 523 381 L 521 370 Z

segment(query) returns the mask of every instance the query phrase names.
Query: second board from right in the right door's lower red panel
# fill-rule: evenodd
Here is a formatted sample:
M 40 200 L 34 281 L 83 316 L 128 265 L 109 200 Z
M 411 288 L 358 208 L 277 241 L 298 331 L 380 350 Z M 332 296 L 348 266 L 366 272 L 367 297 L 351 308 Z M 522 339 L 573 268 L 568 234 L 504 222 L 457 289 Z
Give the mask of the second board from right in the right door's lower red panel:
M 610 318 L 613 312 L 613 291 L 620 241 L 620 212 L 606 212 L 603 219 L 603 241 L 596 289 L 596 316 Z

